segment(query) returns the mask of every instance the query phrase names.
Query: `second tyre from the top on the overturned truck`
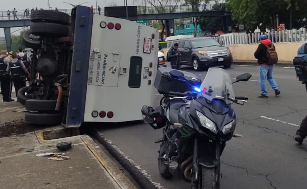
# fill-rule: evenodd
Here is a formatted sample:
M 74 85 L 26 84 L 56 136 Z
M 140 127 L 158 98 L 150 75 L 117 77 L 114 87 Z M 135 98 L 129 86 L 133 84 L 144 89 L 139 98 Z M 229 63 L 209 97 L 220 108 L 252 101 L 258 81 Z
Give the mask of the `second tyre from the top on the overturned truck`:
M 32 34 L 41 37 L 66 37 L 68 36 L 69 28 L 66 25 L 38 22 L 31 24 L 30 31 Z

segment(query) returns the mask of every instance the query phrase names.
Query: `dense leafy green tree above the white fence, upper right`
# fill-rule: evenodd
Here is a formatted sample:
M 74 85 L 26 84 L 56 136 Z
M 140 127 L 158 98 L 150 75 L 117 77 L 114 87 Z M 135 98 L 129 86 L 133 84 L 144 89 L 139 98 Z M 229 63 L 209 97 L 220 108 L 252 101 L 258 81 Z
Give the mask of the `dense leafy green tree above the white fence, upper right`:
M 252 31 L 261 23 L 261 29 L 276 28 L 277 15 L 280 23 L 288 28 L 305 25 L 306 13 L 303 8 L 307 1 L 302 0 L 226 0 L 232 18 Z

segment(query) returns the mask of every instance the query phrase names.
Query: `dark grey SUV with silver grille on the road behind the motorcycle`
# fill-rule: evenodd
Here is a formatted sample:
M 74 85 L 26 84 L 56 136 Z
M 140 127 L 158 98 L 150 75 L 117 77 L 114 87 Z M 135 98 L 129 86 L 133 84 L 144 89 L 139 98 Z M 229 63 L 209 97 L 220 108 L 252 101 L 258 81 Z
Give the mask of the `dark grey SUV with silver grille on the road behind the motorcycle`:
M 181 65 L 191 65 L 200 71 L 204 67 L 224 66 L 232 64 L 232 55 L 228 47 L 222 46 L 211 37 L 194 37 L 178 40 L 181 52 Z

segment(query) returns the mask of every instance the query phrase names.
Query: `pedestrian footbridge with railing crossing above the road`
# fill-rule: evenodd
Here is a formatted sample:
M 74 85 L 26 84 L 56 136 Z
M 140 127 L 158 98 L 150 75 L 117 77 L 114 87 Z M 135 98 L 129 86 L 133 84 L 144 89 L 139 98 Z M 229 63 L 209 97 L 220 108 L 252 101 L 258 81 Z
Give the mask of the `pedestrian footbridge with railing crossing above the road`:
M 165 20 L 166 33 L 168 36 L 173 35 L 174 19 L 187 18 L 187 17 L 223 17 L 223 28 L 228 28 L 228 24 L 231 23 L 231 16 L 226 15 L 224 11 L 214 9 L 215 4 L 201 5 L 200 11 L 193 11 L 195 9 L 190 5 L 175 5 L 165 7 L 154 6 L 138 6 L 137 15 L 128 17 L 129 20 Z M 59 9 L 59 11 L 71 14 L 72 9 Z M 29 10 L 31 14 L 31 10 Z M 94 14 L 99 14 L 98 9 L 93 10 Z M 101 15 L 104 15 L 104 10 L 101 9 Z M 129 15 L 128 15 L 129 16 Z M 8 51 L 11 48 L 10 28 L 14 27 L 26 27 L 31 24 L 29 17 L 25 11 L 18 11 L 17 18 L 15 19 L 10 13 L 7 15 L 6 11 L 0 12 L 0 28 L 4 28 L 6 46 Z M 120 17 L 126 19 L 126 17 Z M 15 19 L 15 20 L 14 20 Z M 227 32 L 227 29 L 226 29 Z

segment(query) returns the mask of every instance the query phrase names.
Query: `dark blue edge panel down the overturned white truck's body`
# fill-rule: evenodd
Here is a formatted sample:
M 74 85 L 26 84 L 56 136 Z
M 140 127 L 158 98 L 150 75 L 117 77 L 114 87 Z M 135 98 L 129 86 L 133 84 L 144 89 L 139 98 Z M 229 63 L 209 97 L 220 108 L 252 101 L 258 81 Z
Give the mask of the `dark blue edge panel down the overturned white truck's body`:
M 93 13 L 90 7 L 77 6 L 72 10 L 74 45 L 66 127 L 80 127 L 84 120 L 92 24 Z

